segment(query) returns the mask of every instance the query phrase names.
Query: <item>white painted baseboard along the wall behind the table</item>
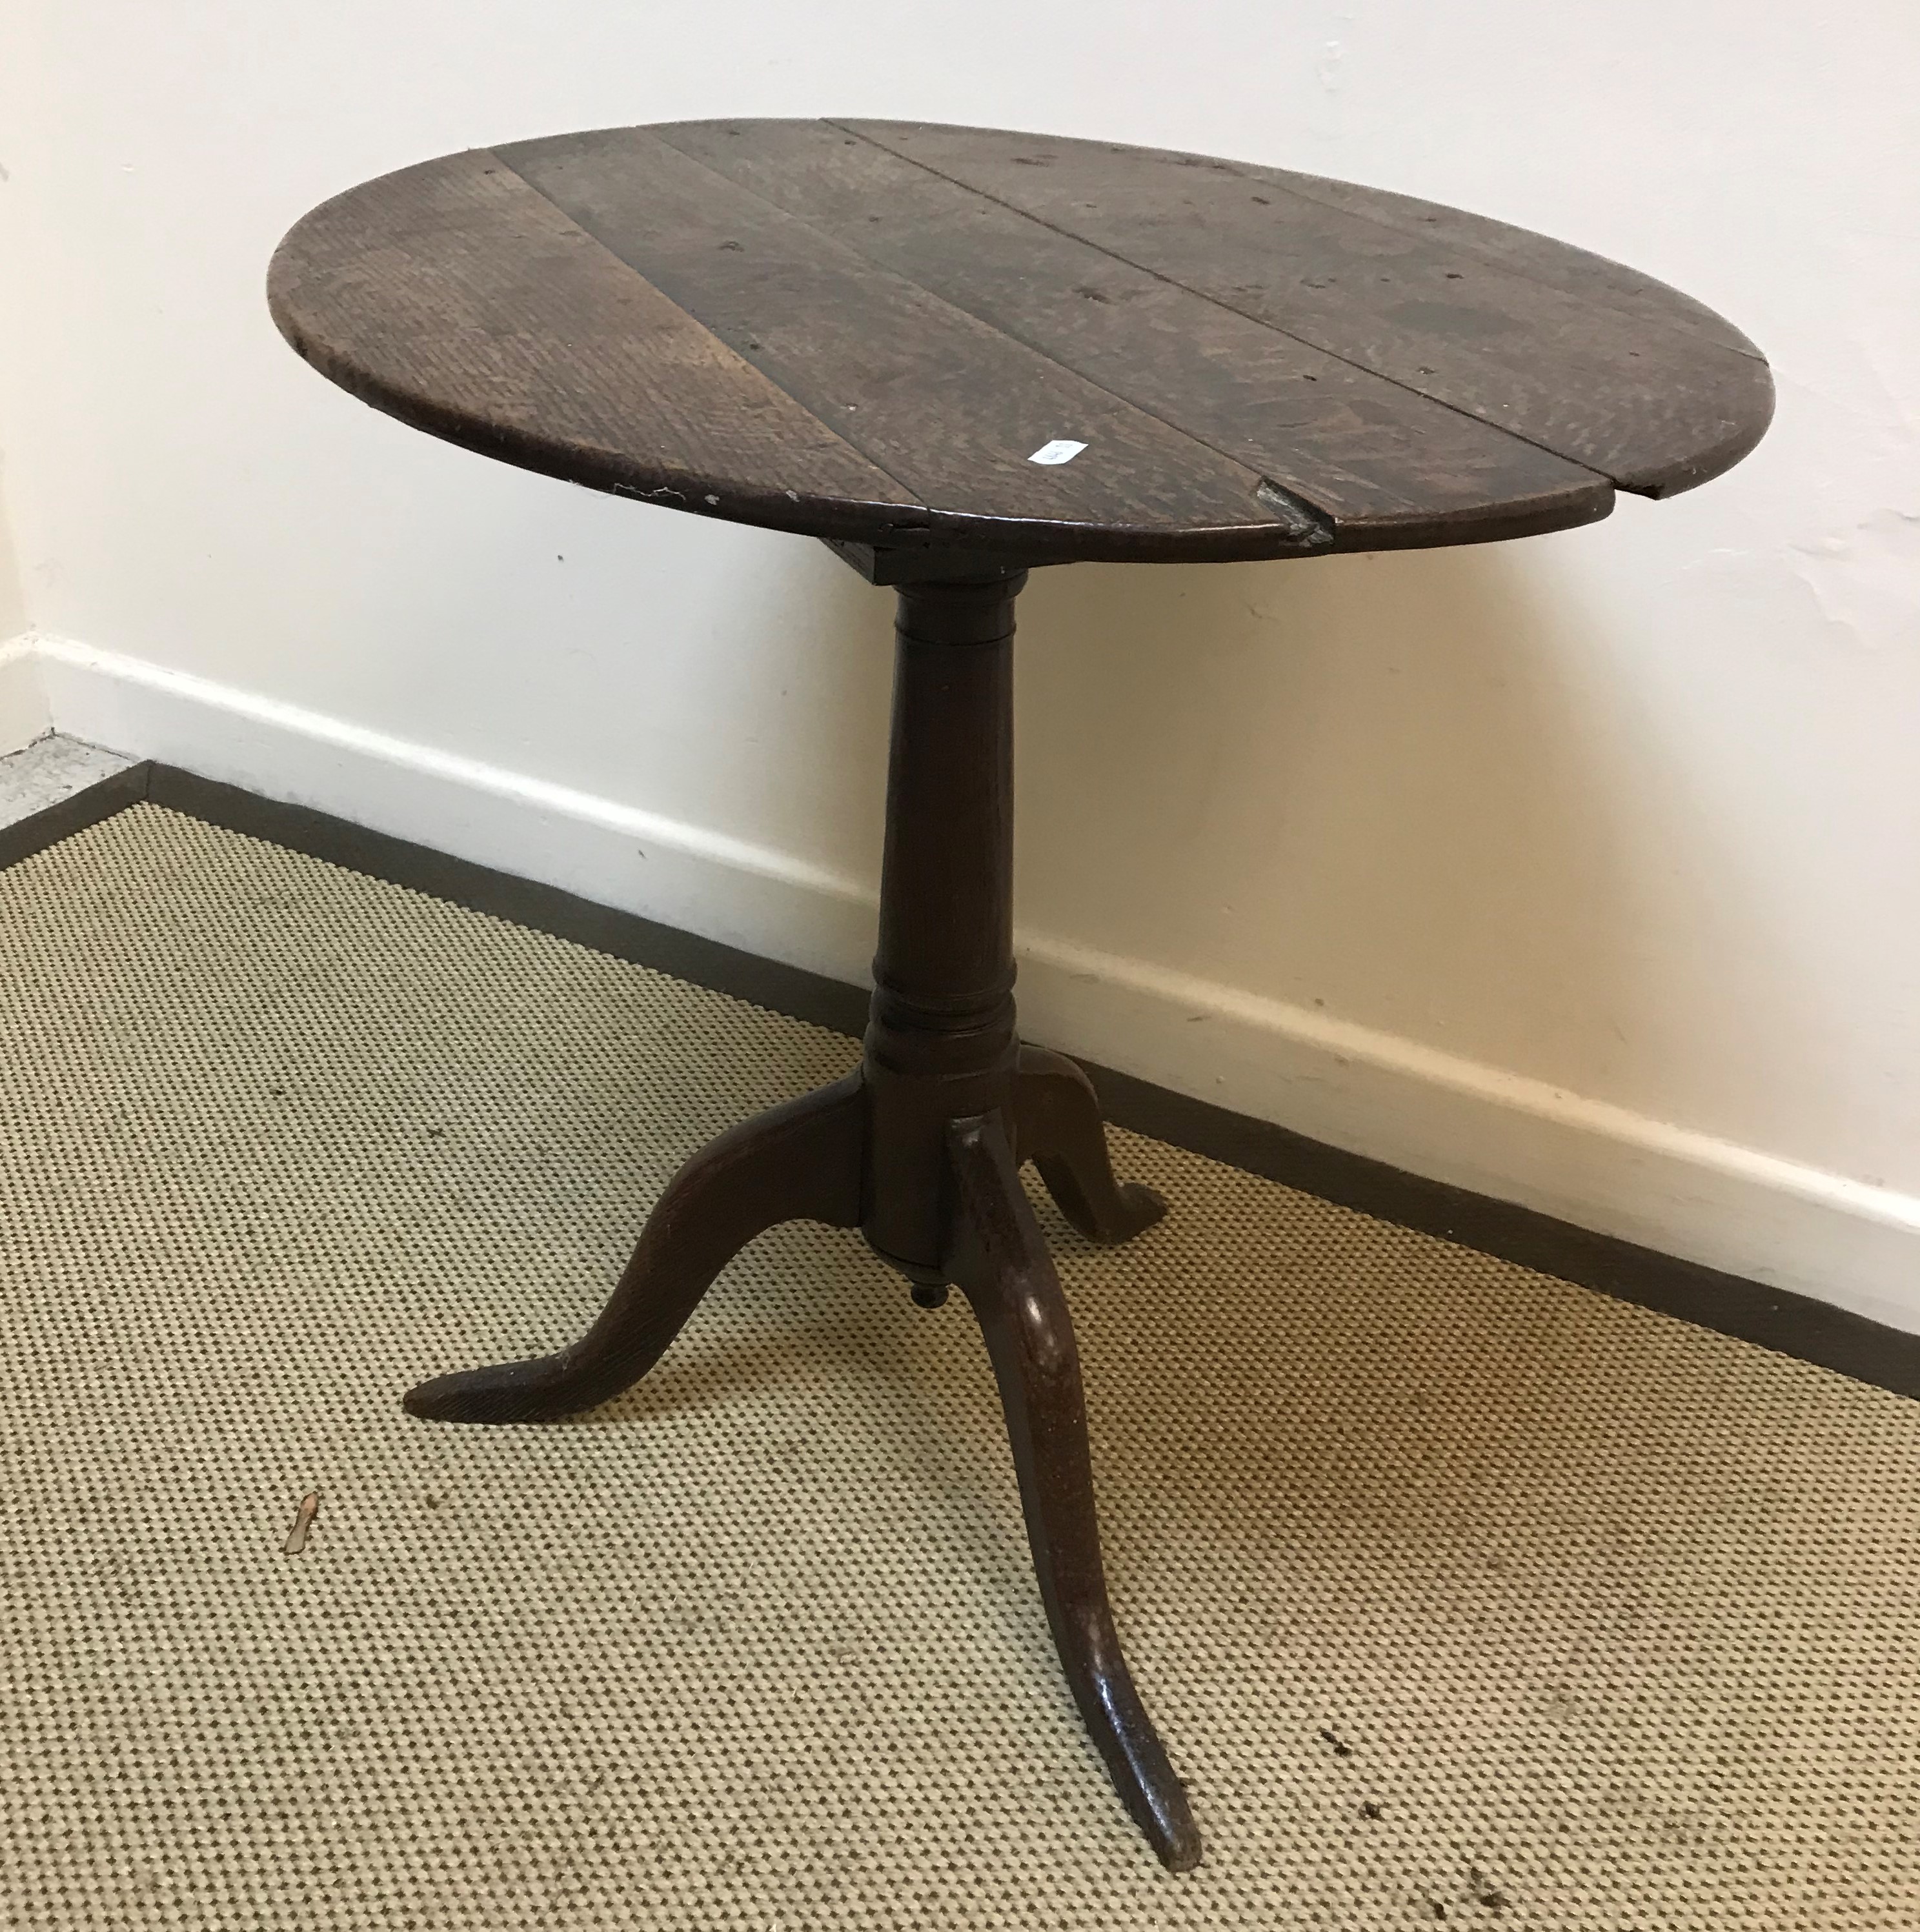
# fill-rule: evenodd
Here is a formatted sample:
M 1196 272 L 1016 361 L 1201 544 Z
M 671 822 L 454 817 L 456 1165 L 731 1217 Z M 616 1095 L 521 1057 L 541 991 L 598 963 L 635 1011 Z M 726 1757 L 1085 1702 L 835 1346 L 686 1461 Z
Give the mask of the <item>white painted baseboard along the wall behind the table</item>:
M 811 972 L 865 976 L 871 885 L 763 846 L 62 638 L 0 651 L 0 724 L 14 715 L 8 703 L 23 719 L 44 717 L 42 730 Z M 1043 931 L 1022 931 L 1018 949 L 1022 1024 L 1037 1039 L 1414 1175 L 1920 1333 L 1920 1196 Z

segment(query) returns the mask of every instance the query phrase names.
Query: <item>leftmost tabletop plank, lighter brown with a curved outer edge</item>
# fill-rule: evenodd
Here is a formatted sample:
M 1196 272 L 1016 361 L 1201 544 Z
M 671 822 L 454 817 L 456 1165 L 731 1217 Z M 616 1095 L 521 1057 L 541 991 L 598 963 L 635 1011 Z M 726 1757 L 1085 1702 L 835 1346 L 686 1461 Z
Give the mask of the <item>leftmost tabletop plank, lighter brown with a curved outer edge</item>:
M 485 149 L 323 203 L 267 292 L 323 375 L 485 456 L 809 535 L 925 526 L 912 493 Z

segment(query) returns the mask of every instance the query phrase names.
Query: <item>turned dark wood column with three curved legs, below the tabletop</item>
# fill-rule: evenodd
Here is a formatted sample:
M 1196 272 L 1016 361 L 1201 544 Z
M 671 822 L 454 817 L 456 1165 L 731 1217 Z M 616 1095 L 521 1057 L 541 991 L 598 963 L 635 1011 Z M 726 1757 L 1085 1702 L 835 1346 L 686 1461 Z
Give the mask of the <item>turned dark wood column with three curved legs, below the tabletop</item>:
M 902 566 L 904 568 L 904 566 Z M 945 560 L 941 568 L 954 568 Z M 778 1221 L 858 1227 L 927 1306 L 958 1287 L 1006 1410 L 1053 1640 L 1087 1731 L 1161 1861 L 1200 1862 L 1107 1607 L 1074 1325 L 1020 1167 L 1091 1240 L 1165 1213 L 1124 1186 L 1087 1076 L 1020 1045 L 1012 956 L 1012 639 L 1018 566 L 900 585 L 881 943 L 860 1072 L 703 1148 L 661 1196 L 570 1349 L 423 1381 L 437 1422 L 551 1422 L 637 1381 L 730 1256 Z

